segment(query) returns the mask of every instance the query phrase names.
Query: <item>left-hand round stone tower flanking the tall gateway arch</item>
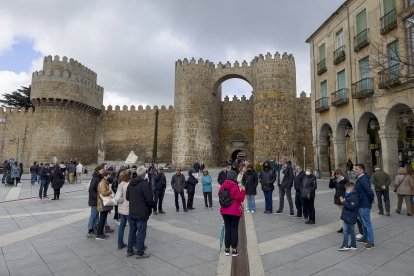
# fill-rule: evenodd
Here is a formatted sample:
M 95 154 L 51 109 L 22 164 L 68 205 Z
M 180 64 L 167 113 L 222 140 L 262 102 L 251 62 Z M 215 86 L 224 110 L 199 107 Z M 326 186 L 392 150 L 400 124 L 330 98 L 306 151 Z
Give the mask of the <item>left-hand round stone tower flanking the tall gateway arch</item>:
M 189 166 L 195 161 L 217 165 L 220 95 L 212 93 L 214 64 L 195 59 L 175 64 L 175 121 L 172 161 Z

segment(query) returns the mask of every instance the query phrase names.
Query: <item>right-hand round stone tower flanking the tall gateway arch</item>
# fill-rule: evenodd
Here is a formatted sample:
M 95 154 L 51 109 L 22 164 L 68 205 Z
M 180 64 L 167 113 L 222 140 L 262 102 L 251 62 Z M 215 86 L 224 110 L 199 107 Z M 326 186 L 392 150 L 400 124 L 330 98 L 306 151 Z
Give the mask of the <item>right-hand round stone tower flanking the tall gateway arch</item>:
M 296 150 L 296 69 L 292 55 L 259 55 L 254 76 L 254 156 L 256 162 Z

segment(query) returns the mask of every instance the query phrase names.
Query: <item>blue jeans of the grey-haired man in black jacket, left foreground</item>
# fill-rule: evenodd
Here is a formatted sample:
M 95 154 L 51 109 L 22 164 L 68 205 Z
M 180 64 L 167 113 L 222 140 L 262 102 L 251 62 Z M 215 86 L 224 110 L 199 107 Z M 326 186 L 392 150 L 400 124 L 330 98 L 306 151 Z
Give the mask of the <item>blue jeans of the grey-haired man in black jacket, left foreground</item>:
M 144 254 L 145 238 L 147 237 L 147 220 L 133 219 L 129 217 L 129 236 L 128 236 L 128 252 L 134 252 L 134 246 L 137 254 Z

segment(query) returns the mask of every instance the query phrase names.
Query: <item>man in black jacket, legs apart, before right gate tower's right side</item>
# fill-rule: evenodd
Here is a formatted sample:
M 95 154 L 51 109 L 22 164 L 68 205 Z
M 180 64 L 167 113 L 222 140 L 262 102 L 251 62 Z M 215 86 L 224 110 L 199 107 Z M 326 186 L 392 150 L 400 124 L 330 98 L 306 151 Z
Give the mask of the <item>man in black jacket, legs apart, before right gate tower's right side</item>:
M 278 175 L 277 186 L 279 186 L 279 210 L 275 212 L 276 215 L 283 214 L 283 207 L 285 205 L 285 195 L 289 202 L 290 213 L 289 216 L 294 216 L 293 201 L 292 201 L 292 186 L 295 176 L 293 175 L 292 166 L 289 165 L 287 158 L 283 157 L 280 161 L 281 169 Z

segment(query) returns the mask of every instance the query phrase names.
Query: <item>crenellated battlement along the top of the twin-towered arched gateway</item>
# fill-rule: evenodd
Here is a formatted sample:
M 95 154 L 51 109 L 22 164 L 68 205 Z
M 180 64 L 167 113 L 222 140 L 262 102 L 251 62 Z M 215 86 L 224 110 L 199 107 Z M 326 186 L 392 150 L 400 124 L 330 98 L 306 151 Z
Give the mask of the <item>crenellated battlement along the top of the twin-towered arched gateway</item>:
M 274 55 L 272 55 L 270 52 L 267 52 L 266 55 L 260 54 L 259 56 L 256 56 L 255 58 L 252 59 L 252 61 L 250 62 L 250 64 L 246 61 L 243 60 L 241 63 L 239 61 L 235 61 L 233 63 L 231 63 L 230 61 L 227 61 L 226 63 L 223 62 L 219 62 L 217 64 L 214 64 L 213 62 L 206 60 L 204 61 L 203 59 L 198 59 L 196 61 L 195 58 L 191 58 L 191 60 L 188 59 L 179 59 L 175 62 L 175 66 L 176 67 L 185 67 L 185 66 L 202 66 L 202 67 L 207 67 L 207 68 L 217 68 L 217 69 L 222 69 L 222 68 L 248 68 L 250 66 L 253 66 L 255 64 L 260 64 L 260 63 L 264 63 L 264 62 L 294 62 L 295 58 L 293 57 L 292 54 L 288 54 L 288 53 L 283 53 L 282 55 L 280 55 L 279 52 L 276 52 Z

